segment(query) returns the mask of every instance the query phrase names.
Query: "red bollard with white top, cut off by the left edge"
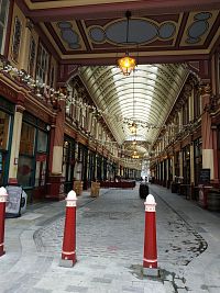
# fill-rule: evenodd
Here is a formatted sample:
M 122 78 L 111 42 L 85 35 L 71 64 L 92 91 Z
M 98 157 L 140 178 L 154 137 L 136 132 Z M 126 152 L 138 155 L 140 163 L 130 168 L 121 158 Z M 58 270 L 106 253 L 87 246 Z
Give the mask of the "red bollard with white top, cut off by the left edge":
M 4 188 L 0 188 L 0 257 L 6 253 L 4 246 L 4 218 L 6 218 L 6 202 L 8 193 Z

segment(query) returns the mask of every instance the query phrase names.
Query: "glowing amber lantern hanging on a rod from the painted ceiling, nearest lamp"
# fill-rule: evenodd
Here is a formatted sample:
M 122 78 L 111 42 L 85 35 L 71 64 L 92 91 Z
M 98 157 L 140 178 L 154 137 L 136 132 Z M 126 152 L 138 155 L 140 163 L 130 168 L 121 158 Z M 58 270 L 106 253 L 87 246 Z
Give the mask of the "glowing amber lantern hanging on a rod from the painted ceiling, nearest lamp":
M 127 11 L 125 16 L 127 16 L 127 44 L 129 44 L 129 20 L 131 18 L 131 11 Z M 133 71 L 136 66 L 136 60 L 135 58 L 129 56 L 129 50 L 127 50 L 125 56 L 118 59 L 118 65 L 124 76 L 130 76 L 131 71 Z

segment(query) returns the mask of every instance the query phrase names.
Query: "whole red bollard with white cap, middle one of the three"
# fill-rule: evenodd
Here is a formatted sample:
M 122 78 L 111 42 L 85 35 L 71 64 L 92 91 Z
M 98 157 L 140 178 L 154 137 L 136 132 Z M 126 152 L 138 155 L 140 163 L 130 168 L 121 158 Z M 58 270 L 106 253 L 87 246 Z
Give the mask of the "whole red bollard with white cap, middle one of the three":
M 76 263 L 76 192 L 69 191 L 66 198 L 66 219 L 61 267 L 70 268 Z

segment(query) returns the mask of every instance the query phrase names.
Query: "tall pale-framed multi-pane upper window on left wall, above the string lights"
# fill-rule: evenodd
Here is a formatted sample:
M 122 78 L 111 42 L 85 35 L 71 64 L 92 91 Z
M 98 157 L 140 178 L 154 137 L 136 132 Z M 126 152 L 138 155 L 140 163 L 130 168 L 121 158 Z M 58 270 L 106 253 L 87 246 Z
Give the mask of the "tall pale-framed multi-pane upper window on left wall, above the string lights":
M 46 83 L 47 72 L 48 72 L 48 53 L 42 46 L 42 44 L 40 44 L 37 63 L 36 63 L 36 79 L 42 83 Z

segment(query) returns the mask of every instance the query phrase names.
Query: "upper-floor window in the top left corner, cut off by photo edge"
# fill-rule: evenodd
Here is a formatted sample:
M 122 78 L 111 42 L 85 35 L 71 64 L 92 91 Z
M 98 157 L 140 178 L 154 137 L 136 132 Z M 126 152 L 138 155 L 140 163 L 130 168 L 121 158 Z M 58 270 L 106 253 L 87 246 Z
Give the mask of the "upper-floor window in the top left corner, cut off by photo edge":
M 3 54 L 9 0 L 0 0 L 0 53 Z

